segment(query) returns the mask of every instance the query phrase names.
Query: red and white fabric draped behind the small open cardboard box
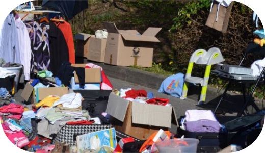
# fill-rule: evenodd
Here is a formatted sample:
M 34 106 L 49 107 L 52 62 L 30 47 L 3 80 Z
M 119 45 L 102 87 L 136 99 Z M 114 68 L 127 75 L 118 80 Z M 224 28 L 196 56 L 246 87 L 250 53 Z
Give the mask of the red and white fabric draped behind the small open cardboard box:
M 92 64 L 92 63 L 88 63 L 86 64 L 86 68 L 100 68 L 101 69 L 101 77 L 102 77 L 102 81 L 100 83 L 100 89 L 101 90 L 112 90 L 113 86 L 111 84 L 111 82 L 109 81 L 109 79 L 107 78 L 107 76 L 105 75 L 102 67 Z

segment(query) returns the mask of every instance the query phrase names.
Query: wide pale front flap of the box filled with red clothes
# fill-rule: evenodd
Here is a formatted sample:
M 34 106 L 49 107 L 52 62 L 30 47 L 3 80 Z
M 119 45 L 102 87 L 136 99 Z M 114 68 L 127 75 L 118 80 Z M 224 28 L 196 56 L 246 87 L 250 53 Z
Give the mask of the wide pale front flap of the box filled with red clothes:
M 172 107 L 132 102 L 132 122 L 136 124 L 171 127 Z

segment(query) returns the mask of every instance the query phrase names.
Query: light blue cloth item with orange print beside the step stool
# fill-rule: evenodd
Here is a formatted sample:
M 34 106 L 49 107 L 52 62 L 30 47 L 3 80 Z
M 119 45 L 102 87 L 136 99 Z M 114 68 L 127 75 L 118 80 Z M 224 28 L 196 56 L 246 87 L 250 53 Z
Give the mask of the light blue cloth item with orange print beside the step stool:
M 166 78 L 158 92 L 166 93 L 174 97 L 180 97 L 182 94 L 185 75 L 183 73 L 177 73 Z

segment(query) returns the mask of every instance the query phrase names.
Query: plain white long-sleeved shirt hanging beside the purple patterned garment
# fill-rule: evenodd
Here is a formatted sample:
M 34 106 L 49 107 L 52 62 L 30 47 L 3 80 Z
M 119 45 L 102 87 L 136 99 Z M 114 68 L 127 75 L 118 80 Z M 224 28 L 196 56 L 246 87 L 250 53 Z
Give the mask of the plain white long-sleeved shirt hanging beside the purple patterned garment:
M 16 30 L 18 37 L 18 47 L 20 51 L 20 61 L 24 67 L 25 80 L 30 80 L 31 71 L 31 39 L 26 29 L 26 25 L 20 19 L 16 19 Z

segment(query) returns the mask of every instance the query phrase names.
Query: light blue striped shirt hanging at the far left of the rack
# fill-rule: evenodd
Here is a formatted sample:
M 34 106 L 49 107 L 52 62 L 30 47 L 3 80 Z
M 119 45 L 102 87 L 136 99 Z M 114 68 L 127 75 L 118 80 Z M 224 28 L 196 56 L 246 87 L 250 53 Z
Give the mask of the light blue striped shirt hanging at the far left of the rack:
M 0 58 L 5 59 L 6 62 L 20 63 L 20 51 L 13 12 L 10 12 L 5 18 L 0 36 Z

